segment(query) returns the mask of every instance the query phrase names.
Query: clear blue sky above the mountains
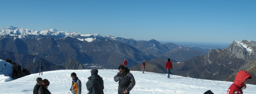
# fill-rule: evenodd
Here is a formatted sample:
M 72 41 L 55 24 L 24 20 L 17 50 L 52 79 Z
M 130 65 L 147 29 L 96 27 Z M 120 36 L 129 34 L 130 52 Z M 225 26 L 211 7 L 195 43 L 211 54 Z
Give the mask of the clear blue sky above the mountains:
M 135 40 L 256 41 L 255 0 L 1 0 L 0 28 Z

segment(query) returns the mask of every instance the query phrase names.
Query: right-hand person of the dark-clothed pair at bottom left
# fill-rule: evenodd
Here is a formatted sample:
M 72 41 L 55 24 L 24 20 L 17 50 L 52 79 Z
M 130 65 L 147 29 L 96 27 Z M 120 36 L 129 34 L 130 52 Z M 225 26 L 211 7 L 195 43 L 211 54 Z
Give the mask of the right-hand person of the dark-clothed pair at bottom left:
M 50 85 L 50 82 L 47 79 L 42 80 L 43 84 L 38 90 L 38 94 L 51 94 L 51 92 L 47 89 Z

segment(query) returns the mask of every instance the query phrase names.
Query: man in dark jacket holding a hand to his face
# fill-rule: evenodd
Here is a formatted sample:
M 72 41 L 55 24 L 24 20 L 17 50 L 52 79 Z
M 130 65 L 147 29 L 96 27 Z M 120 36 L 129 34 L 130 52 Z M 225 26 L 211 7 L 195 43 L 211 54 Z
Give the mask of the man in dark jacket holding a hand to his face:
M 130 70 L 124 65 L 118 67 L 119 72 L 114 76 L 114 81 L 118 82 L 118 94 L 130 94 L 136 82 Z

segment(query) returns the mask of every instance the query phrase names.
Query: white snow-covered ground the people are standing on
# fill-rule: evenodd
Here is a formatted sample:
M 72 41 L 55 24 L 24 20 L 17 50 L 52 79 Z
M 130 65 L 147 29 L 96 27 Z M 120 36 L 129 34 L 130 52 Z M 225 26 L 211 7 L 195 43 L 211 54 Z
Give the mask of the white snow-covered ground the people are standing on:
M 82 94 L 87 94 L 86 82 L 91 75 L 90 70 L 55 70 L 43 72 L 43 75 L 31 74 L 16 80 L 4 82 L 5 77 L 0 75 L 0 94 L 32 94 L 36 78 L 48 79 L 50 86 L 48 89 L 52 94 L 71 94 L 70 87 L 72 79 L 70 74 L 76 72 L 78 78 L 82 81 Z M 118 94 L 118 82 L 114 81 L 114 76 L 118 70 L 99 70 L 98 74 L 104 80 L 104 94 Z M 228 87 L 232 82 L 214 81 L 188 78 L 167 74 L 158 74 L 140 71 L 131 71 L 136 80 L 136 85 L 130 94 L 203 94 L 211 90 L 214 94 L 226 94 Z M 256 85 L 247 84 L 243 90 L 244 94 L 255 94 Z

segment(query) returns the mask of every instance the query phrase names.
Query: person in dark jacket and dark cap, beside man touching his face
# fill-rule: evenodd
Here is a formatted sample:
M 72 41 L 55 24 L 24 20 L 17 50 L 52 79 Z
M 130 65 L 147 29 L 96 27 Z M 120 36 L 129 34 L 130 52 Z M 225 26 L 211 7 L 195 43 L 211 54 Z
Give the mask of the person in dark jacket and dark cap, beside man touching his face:
M 91 76 L 88 77 L 86 87 L 87 90 L 89 90 L 88 94 L 104 94 L 104 82 L 102 78 L 98 75 L 98 70 L 91 70 Z

